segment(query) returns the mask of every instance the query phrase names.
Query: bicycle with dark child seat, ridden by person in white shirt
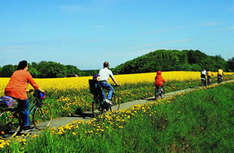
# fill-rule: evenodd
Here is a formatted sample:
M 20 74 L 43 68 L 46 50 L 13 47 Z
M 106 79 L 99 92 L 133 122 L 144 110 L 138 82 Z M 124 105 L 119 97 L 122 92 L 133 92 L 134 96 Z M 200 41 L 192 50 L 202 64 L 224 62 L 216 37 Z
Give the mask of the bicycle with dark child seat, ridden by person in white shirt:
M 114 85 L 113 87 L 118 87 Z M 89 89 L 90 92 L 93 94 L 94 98 L 92 101 L 92 113 L 95 116 L 95 110 L 98 109 L 99 112 L 103 113 L 105 111 L 117 111 L 120 108 L 120 98 L 119 96 L 114 92 L 112 95 L 112 105 L 107 104 L 104 102 L 104 104 L 101 104 L 103 101 L 102 97 L 102 88 L 99 86 L 99 82 L 95 80 L 89 80 Z M 95 107 L 95 104 L 97 105 Z

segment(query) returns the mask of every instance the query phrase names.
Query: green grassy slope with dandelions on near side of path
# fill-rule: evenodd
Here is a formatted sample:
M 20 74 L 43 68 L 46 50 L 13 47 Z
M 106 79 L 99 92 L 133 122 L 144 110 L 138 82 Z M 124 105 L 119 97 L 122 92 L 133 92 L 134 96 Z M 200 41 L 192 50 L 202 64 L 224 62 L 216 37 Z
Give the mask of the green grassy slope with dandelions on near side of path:
M 131 119 L 129 113 L 120 113 L 125 122 L 118 122 L 119 117 L 112 114 L 113 122 L 100 117 L 91 125 L 82 124 L 62 135 L 45 132 L 24 146 L 15 143 L 3 151 L 229 153 L 234 146 L 233 89 L 233 84 L 225 84 L 194 91 L 144 106 L 146 109 L 137 110 Z M 95 131 L 97 124 L 108 128 L 87 134 Z

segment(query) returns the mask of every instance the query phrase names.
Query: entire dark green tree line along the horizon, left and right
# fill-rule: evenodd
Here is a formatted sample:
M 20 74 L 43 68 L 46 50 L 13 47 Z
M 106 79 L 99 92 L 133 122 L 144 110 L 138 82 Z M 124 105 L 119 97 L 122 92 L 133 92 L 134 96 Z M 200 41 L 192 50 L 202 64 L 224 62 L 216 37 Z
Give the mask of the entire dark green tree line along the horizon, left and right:
M 111 61 L 110 61 L 111 62 Z M 0 77 L 10 77 L 17 65 L 0 67 Z M 208 56 L 199 50 L 156 50 L 112 68 L 114 74 L 161 71 L 201 71 L 202 69 L 234 72 L 234 57 L 225 61 L 221 56 Z M 80 70 L 73 65 L 53 61 L 29 63 L 29 72 L 35 78 L 91 76 L 98 70 Z

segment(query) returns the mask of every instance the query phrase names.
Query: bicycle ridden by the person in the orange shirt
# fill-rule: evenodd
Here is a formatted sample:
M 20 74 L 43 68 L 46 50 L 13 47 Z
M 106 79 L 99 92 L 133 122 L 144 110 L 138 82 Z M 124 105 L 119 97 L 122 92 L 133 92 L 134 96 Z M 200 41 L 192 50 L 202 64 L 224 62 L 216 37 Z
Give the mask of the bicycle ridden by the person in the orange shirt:
M 28 93 L 33 91 L 34 90 L 30 90 Z M 35 90 L 33 96 L 29 95 L 31 102 L 29 112 L 32 114 L 33 125 L 38 130 L 48 128 L 53 119 L 51 107 L 40 98 L 41 94 L 44 93 Z M 17 100 L 15 101 L 17 102 Z M 14 137 L 21 131 L 22 120 L 20 118 L 19 109 L 17 107 L 0 107 L 0 138 Z

